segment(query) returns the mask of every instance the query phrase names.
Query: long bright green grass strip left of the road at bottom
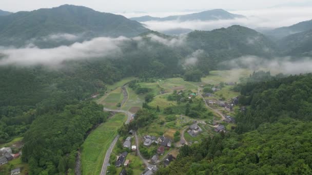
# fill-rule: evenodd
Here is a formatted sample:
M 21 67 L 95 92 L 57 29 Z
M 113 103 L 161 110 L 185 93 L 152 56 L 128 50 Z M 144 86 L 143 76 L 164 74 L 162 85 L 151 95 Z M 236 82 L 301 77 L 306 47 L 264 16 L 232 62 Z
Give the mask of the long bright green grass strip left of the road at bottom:
M 99 174 L 106 154 L 106 150 L 126 121 L 124 114 L 116 114 L 107 122 L 101 124 L 87 137 L 82 145 L 82 172 L 83 174 Z

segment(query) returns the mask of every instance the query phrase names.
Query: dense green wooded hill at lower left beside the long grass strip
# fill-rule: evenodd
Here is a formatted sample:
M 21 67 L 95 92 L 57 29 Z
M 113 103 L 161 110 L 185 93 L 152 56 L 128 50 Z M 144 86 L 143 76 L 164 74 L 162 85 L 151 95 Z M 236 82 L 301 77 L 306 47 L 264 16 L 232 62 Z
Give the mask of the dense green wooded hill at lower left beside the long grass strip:
M 28 162 L 29 174 L 73 171 L 76 151 L 87 131 L 107 117 L 103 106 L 95 102 L 77 102 L 37 116 L 24 136 L 22 160 Z

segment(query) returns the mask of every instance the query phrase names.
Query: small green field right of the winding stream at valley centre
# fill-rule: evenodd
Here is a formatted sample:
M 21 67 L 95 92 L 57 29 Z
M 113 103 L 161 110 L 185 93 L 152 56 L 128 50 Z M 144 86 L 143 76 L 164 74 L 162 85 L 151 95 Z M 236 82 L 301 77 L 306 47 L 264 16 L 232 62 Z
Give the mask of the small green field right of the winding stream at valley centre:
M 122 106 L 122 110 L 128 111 L 131 107 L 142 107 L 144 102 L 144 95 L 143 94 L 135 94 L 135 92 L 127 87 L 128 92 L 128 100 Z

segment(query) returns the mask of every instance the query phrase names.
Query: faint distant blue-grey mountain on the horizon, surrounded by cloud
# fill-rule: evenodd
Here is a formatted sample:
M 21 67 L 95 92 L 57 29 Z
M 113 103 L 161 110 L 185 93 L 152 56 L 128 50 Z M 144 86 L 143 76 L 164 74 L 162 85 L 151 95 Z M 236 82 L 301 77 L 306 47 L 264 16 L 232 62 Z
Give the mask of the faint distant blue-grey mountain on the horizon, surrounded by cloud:
M 142 17 L 133 17 L 131 20 L 136 20 L 139 22 L 145 22 L 149 20 L 158 20 L 158 21 L 166 21 L 166 20 L 220 20 L 220 19 L 234 19 L 234 18 L 243 18 L 245 16 L 232 14 L 223 9 L 214 9 L 208 10 L 200 13 L 191 13 L 187 15 L 176 15 L 176 16 L 167 16 L 167 17 L 152 17 L 152 16 L 142 16 Z

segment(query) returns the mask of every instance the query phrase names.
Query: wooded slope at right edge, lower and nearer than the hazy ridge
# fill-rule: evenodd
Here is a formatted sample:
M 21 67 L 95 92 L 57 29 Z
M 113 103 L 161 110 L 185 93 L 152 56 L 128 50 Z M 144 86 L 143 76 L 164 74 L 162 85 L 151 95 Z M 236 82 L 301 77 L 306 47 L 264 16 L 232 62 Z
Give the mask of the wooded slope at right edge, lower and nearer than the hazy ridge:
M 312 56 L 312 30 L 286 36 L 278 43 L 284 55 Z

